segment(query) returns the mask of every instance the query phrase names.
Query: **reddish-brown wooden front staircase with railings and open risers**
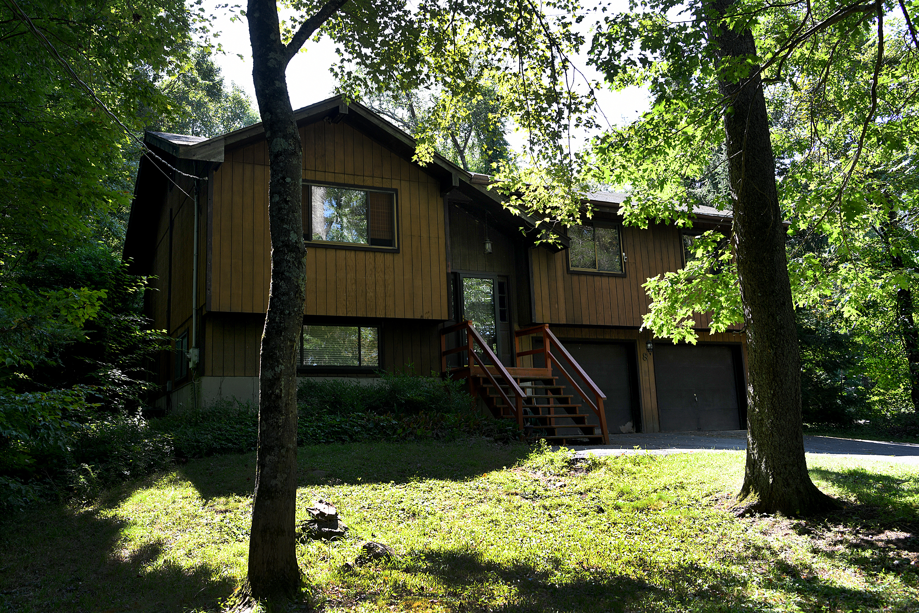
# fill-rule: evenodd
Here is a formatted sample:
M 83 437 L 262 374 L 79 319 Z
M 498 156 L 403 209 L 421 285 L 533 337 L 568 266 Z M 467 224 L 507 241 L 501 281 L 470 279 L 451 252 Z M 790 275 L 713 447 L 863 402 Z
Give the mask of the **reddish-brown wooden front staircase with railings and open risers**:
M 447 335 L 455 332 L 465 342 L 447 349 Z M 541 337 L 542 347 L 520 351 L 521 340 L 533 336 Z M 476 349 L 481 351 L 481 355 Z M 553 353 L 552 349 L 556 349 L 557 353 Z M 448 368 L 448 356 L 455 353 L 466 354 L 466 360 L 462 362 L 465 365 Z M 548 325 L 516 330 L 514 353 L 515 362 L 527 355 L 542 354 L 545 366 L 505 366 L 469 321 L 441 330 L 442 373 L 454 380 L 465 379 L 471 396 L 481 397 L 495 418 L 514 419 L 524 438 L 545 439 L 562 445 L 609 442 L 603 411 L 603 401 L 607 396 L 574 361 Z M 557 355 L 568 362 L 574 376 L 562 366 Z M 558 368 L 562 376 L 553 373 L 554 368 Z M 565 381 L 577 396 L 565 392 Z M 595 423 L 589 423 L 592 417 L 596 417 Z

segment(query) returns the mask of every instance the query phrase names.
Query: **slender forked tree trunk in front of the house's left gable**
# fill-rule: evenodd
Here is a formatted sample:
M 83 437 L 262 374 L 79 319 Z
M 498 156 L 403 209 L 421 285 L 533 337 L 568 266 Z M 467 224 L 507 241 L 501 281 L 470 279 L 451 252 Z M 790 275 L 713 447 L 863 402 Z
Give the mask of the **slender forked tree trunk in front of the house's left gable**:
M 294 596 L 297 564 L 296 342 L 306 300 L 301 222 L 302 150 L 287 87 L 275 0 L 249 0 L 255 98 L 268 143 L 271 285 L 258 378 L 258 451 L 248 580 L 255 598 Z

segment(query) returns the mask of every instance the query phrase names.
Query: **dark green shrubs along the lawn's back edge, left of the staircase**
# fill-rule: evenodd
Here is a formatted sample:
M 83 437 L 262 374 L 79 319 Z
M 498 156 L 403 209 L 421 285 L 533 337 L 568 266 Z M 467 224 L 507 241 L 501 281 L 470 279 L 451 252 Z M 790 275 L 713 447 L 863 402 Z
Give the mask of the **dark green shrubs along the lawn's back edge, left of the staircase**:
M 0 396 L 6 434 L 0 507 L 23 506 L 51 493 L 89 500 L 103 487 L 163 470 L 176 459 L 255 451 L 258 442 L 258 410 L 251 403 L 218 402 L 146 421 L 94 412 L 83 401 L 79 420 L 65 421 L 61 398 L 26 396 Z M 21 406 L 26 400 L 28 410 Z M 74 398 L 69 401 L 73 407 Z M 38 415 L 45 417 L 24 421 Z M 306 379 L 298 390 L 301 445 L 518 435 L 511 420 L 476 411 L 461 382 L 437 377 L 382 374 L 370 383 Z

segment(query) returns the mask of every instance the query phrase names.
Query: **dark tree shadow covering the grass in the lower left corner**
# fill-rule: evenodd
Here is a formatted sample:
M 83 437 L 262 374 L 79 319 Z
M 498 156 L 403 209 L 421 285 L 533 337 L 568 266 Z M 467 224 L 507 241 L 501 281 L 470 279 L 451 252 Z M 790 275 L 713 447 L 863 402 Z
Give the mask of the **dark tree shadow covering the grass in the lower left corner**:
M 119 488 L 104 506 L 31 507 L 0 523 L 0 612 L 180 611 L 216 608 L 235 589 L 232 577 L 205 564 L 155 563 L 168 546 L 122 544 L 130 520 L 107 517 L 142 485 Z

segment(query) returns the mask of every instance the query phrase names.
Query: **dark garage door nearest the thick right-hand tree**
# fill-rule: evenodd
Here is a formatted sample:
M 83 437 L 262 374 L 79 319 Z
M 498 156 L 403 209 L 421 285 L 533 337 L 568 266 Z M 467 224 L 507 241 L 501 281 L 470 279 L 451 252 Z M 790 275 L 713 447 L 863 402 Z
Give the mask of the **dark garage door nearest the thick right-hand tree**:
M 734 349 L 654 345 L 661 431 L 741 429 Z

